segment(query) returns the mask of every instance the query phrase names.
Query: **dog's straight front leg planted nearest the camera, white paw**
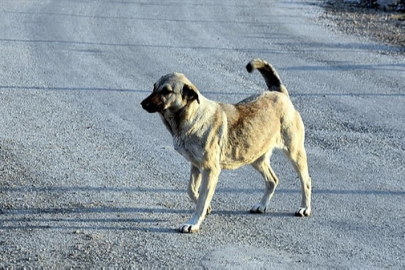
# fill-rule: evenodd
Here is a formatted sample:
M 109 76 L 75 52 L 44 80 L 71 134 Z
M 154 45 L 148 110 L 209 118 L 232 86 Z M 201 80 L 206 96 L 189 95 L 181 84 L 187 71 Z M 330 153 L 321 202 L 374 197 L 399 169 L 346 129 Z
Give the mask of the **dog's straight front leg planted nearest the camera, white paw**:
M 220 169 L 204 169 L 201 175 L 200 193 L 197 199 L 197 206 L 194 214 L 187 223 L 181 225 L 180 232 L 194 233 L 200 229 L 200 225 L 210 208 L 212 196 L 218 183 Z

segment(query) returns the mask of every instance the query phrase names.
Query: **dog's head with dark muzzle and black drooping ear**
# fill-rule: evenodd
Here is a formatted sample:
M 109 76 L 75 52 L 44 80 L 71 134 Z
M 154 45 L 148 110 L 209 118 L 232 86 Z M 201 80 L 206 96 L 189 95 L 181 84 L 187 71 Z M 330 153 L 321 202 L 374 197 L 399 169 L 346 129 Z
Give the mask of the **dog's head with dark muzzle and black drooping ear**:
M 153 86 L 153 92 L 142 102 L 142 108 L 149 113 L 177 112 L 194 101 L 200 103 L 200 93 L 181 73 L 161 77 Z

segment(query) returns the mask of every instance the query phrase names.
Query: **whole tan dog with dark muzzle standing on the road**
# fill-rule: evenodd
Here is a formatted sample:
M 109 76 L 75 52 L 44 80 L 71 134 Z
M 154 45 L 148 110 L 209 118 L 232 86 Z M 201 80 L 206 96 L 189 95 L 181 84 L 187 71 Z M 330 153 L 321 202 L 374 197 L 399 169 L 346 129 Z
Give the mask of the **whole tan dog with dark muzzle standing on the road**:
M 264 213 L 278 184 L 270 167 L 273 148 L 283 150 L 301 179 L 302 202 L 296 215 L 311 213 L 311 178 L 301 117 L 270 64 L 254 59 L 246 68 L 249 72 L 259 70 L 270 91 L 235 105 L 218 103 L 201 95 L 183 74 L 173 73 L 160 78 L 152 94 L 141 103 L 149 113 L 160 114 L 173 136 L 174 149 L 191 163 L 188 194 L 197 206 L 180 232 L 199 230 L 211 211 L 222 169 L 251 164 L 260 172 L 266 189 L 250 212 Z

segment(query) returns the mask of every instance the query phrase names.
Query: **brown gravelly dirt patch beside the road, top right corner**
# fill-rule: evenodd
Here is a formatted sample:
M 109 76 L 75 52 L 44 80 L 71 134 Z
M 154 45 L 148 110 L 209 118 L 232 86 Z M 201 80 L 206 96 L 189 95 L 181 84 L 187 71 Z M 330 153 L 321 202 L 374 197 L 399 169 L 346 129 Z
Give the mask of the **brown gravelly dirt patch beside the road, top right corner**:
M 336 30 L 392 45 L 397 53 L 405 52 L 405 13 L 395 7 L 384 11 L 368 0 L 325 0 L 323 8 L 321 17 L 332 21 Z

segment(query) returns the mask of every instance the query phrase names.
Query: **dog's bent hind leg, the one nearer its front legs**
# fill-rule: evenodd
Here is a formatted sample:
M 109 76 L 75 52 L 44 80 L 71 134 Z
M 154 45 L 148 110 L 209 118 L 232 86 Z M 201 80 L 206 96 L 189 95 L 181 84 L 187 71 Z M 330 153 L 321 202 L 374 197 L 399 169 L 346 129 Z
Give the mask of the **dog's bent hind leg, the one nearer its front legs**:
M 260 174 L 263 176 L 266 188 L 264 190 L 264 195 L 262 197 L 262 200 L 260 201 L 260 203 L 254 205 L 250 209 L 250 213 L 260 214 L 260 213 L 266 212 L 267 206 L 270 203 L 270 199 L 273 196 L 274 190 L 277 187 L 278 178 L 270 166 L 270 156 L 271 156 L 271 151 L 264 154 L 259 159 L 257 159 L 254 163 L 252 163 L 252 166 L 257 171 L 259 171 Z

